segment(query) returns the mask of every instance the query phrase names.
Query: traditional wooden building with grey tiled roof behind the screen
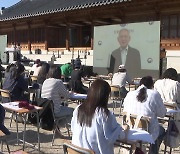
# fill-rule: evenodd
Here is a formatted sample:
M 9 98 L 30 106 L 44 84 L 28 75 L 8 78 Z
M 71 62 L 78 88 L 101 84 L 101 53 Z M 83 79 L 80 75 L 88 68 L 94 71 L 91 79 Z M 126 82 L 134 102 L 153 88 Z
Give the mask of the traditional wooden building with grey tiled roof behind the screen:
M 0 35 L 22 50 L 92 49 L 100 25 L 161 21 L 161 47 L 180 48 L 179 0 L 21 0 L 0 11 Z

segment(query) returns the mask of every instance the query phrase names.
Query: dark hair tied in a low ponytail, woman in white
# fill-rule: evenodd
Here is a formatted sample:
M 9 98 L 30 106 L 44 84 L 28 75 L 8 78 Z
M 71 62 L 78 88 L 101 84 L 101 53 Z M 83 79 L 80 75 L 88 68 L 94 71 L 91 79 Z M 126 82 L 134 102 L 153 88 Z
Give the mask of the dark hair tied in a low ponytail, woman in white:
M 137 100 L 140 102 L 144 102 L 146 100 L 147 96 L 147 90 L 146 89 L 152 89 L 153 87 L 153 79 L 151 76 L 145 76 L 141 79 L 140 85 L 144 85 L 145 87 L 141 88 L 139 90 L 139 93 L 137 95 Z

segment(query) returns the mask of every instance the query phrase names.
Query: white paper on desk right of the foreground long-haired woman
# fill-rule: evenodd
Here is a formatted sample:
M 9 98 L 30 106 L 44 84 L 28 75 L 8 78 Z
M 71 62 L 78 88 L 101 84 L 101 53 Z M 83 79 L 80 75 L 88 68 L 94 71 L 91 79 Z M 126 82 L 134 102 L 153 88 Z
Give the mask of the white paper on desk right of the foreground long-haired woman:
M 140 140 L 143 142 L 148 142 L 154 144 L 152 136 L 145 130 L 140 129 L 130 129 L 128 131 L 128 140 Z

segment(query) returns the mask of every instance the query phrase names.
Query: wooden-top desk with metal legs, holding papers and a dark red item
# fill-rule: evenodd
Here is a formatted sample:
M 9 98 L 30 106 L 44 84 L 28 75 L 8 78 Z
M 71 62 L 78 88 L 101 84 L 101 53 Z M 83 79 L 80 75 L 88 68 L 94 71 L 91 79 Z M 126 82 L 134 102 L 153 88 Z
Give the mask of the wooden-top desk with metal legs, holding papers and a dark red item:
M 39 114 L 38 111 L 42 109 L 42 107 L 34 106 L 35 108 L 32 110 L 28 110 L 25 108 L 19 108 L 19 102 L 10 102 L 10 103 L 4 103 L 2 106 L 11 112 L 14 112 L 16 114 L 16 119 L 18 114 L 22 114 L 24 116 L 24 132 L 23 132 L 23 140 L 19 139 L 19 131 L 18 131 L 18 122 L 16 120 L 16 128 L 17 128 L 17 143 L 19 144 L 19 141 L 23 142 L 23 150 L 25 148 L 25 133 L 26 133 L 26 120 L 27 115 L 32 112 L 36 112 L 37 114 L 37 135 L 38 135 L 38 151 L 40 152 L 40 140 L 39 140 Z

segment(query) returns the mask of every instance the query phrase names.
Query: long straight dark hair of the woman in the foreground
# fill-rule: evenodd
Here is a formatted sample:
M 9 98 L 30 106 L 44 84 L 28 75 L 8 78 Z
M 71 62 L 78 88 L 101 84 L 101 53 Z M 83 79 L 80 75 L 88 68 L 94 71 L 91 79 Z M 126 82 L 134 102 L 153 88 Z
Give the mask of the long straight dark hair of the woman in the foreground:
M 106 116 L 108 116 L 107 104 L 110 92 L 111 88 L 106 81 L 97 79 L 92 83 L 86 101 L 79 106 L 78 122 L 81 126 L 91 127 L 96 108 L 98 110 L 103 109 Z

